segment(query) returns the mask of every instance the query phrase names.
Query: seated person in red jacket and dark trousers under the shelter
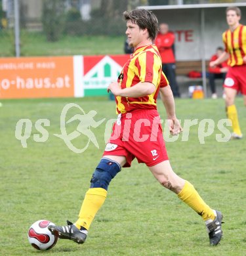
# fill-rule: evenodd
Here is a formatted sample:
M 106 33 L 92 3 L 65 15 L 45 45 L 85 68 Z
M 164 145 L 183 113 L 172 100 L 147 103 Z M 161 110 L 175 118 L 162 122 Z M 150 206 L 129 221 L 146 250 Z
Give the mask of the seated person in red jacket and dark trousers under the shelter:
M 224 49 L 222 47 L 218 47 L 216 49 L 216 54 L 214 54 L 211 57 L 210 62 L 216 60 L 223 52 L 224 52 Z M 212 98 L 217 98 L 215 79 L 222 78 L 224 80 L 226 78 L 227 72 L 228 72 L 227 61 L 222 62 L 221 64 L 213 68 L 209 66 L 209 85 L 212 93 Z

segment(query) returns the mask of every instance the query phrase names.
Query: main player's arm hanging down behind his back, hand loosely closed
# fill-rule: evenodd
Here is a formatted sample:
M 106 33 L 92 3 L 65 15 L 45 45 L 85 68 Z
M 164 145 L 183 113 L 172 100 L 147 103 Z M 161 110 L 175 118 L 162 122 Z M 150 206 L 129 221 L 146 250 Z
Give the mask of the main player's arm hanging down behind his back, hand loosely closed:
M 175 103 L 173 98 L 173 92 L 171 90 L 170 85 L 167 85 L 165 87 L 160 87 L 159 92 L 161 95 L 161 100 L 165 106 L 165 110 L 167 112 L 169 131 L 172 135 L 178 135 L 178 133 L 182 132 L 183 129 L 180 125 L 180 122 L 176 118 Z

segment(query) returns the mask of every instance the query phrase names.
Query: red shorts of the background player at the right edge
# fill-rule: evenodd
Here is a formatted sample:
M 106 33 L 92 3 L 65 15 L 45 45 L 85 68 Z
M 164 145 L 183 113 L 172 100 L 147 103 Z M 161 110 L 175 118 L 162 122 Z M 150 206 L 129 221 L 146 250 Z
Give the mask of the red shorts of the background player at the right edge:
M 230 67 L 223 87 L 232 88 L 246 95 L 246 64 Z

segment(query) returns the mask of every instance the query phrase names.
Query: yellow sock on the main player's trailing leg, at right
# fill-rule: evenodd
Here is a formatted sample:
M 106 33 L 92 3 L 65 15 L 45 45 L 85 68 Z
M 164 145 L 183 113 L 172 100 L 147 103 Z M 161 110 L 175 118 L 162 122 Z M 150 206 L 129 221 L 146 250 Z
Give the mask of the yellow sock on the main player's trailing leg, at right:
M 184 203 L 188 204 L 194 211 L 196 211 L 204 221 L 208 219 L 215 219 L 215 213 L 213 209 L 209 207 L 199 196 L 194 186 L 190 182 L 184 183 L 184 188 L 178 193 L 178 198 Z

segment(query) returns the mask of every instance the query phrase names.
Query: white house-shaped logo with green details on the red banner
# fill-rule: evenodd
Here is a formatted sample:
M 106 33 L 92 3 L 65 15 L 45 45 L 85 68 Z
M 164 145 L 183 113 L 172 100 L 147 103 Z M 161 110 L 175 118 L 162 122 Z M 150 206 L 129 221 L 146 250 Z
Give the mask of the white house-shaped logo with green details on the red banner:
M 105 56 L 83 77 L 83 88 L 86 95 L 106 95 L 106 88 L 112 81 L 117 81 L 122 66 L 109 56 Z M 95 91 L 95 89 L 99 91 Z M 87 91 L 90 90 L 90 91 Z M 94 90 L 91 91 L 91 90 Z

